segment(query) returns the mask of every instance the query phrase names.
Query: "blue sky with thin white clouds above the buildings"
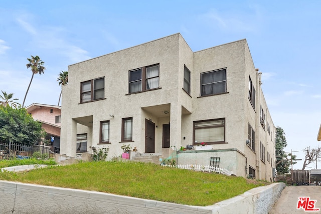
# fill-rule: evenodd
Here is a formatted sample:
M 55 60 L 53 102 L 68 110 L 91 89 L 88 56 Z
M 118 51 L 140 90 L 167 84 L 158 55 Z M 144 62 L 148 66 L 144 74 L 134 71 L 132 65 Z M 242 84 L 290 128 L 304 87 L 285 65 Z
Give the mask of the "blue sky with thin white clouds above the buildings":
M 286 152 L 304 159 L 306 146 L 321 143 L 321 1 L 1 2 L 0 90 L 22 103 L 32 75 L 27 58 L 38 55 L 47 68 L 35 75 L 25 106 L 57 105 L 58 75 L 77 62 L 175 33 L 194 52 L 246 39 Z

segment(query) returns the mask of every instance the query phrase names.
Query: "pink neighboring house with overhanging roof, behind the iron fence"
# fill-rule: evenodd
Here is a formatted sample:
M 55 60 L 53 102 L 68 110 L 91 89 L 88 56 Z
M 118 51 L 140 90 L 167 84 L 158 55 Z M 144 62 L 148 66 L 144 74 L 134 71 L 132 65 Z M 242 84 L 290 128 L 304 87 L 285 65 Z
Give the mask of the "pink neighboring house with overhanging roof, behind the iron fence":
M 51 140 L 53 150 L 60 150 L 61 106 L 33 103 L 26 107 L 32 117 L 42 123 L 47 132 L 46 140 Z

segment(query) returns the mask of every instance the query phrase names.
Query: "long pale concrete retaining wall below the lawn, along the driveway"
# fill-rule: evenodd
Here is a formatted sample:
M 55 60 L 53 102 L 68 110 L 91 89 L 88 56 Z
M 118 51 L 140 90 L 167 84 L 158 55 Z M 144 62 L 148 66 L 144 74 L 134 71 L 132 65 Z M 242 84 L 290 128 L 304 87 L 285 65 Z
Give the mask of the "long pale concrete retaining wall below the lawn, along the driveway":
M 0 213 L 268 213 L 284 183 L 215 203 L 190 206 L 70 188 L 0 181 Z

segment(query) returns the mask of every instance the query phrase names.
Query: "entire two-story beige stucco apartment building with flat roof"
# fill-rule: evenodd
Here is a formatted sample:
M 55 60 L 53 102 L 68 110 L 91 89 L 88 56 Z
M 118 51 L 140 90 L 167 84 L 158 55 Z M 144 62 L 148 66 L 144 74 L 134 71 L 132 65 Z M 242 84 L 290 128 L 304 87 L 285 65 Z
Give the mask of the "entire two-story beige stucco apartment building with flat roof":
M 70 65 L 68 74 L 61 154 L 109 147 L 111 159 L 123 144 L 153 155 L 206 143 L 211 150 L 178 151 L 178 163 L 273 179 L 275 127 L 246 40 L 193 52 L 175 34 Z

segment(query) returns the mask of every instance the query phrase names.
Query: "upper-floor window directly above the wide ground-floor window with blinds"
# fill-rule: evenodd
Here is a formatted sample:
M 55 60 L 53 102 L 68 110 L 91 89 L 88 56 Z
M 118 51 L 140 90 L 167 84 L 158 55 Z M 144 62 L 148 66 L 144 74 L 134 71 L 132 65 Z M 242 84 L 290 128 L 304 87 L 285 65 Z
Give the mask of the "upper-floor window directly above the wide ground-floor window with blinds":
M 201 74 L 201 96 L 226 92 L 226 69 Z

